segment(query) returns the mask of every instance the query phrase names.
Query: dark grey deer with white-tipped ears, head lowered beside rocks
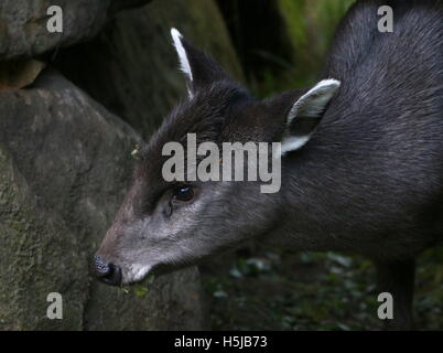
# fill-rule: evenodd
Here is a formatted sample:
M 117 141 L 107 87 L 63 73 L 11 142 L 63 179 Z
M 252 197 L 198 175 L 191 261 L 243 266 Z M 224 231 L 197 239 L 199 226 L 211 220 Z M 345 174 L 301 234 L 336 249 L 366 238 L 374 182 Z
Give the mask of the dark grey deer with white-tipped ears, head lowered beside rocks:
M 97 250 L 97 278 L 130 285 L 253 240 L 370 259 L 393 299 L 388 329 L 412 325 L 415 259 L 443 239 L 443 11 L 439 1 L 357 1 L 318 82 L 256 98 L 176 29 L 187 96 L 145 142 Z M 165 181 L 169 141 L 280 142 L 281 188 Z

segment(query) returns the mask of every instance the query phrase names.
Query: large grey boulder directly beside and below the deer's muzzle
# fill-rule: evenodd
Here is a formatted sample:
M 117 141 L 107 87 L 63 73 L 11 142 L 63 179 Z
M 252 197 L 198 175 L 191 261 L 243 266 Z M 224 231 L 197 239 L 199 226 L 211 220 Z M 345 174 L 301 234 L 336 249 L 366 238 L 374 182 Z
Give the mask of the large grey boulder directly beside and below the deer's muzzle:
M 130 180 L 132 128 L 54 72 L 0 93 L 0 330 L 201 329 L 196 269 L 144 298 L 89 276 Z M 46 317 L 50 292 L 63 320 Z

